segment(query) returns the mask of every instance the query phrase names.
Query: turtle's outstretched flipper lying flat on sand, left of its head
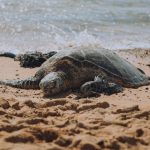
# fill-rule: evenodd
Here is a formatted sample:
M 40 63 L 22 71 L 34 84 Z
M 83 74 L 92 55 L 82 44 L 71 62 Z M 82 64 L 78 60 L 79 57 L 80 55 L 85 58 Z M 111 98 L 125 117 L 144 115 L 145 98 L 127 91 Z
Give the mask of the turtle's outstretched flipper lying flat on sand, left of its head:
M 6 81 L 0 81 L 1 85 L 8 85 L 15 88 L 21 88 L 21 89 L 39 89 L 39 82 L 40 80 L 31 77 L 27 78 L 25 80 L 6 80 Z

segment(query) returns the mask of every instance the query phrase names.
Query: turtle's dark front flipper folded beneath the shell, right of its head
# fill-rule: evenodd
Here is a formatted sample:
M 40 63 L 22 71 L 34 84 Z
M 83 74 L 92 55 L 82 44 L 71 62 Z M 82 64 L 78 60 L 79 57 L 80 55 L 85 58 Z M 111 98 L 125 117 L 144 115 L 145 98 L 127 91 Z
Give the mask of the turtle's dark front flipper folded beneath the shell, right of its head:
M 80 88 L 83 97 L 94 96 L 99 93 L 111 95 L 122 91 L 122 86 L 115 83 L 109 83 L 107 80 L 99 77 L 96 77 L 94 81 L 84 83 Z

